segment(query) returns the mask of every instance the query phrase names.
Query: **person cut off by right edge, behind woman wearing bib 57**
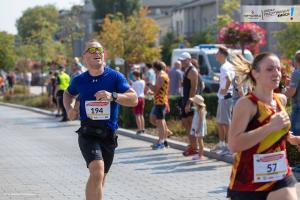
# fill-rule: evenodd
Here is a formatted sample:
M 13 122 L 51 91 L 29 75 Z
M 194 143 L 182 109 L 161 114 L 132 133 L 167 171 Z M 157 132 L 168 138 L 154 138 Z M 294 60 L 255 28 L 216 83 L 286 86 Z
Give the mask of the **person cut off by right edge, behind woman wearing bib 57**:
M 295 70 L 284 94 L 292 97 L 291 130 L 294 135 L 300 136 L 300 50 L 296 52 Z

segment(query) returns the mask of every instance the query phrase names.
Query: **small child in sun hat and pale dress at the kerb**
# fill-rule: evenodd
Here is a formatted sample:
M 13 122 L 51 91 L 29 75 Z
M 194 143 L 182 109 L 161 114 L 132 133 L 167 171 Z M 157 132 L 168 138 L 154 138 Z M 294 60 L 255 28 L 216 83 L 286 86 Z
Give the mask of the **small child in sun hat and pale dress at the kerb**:
M 207 132 L 206 128 L 206 105 L 201 95 L 195 95 L 190 100 L 194 103 L 194 116 L 190 134 L 196 138 L 199 144 L 199 153 L 193 156 L 193 160 L 203 160 L 204 142 L 203 137 Z

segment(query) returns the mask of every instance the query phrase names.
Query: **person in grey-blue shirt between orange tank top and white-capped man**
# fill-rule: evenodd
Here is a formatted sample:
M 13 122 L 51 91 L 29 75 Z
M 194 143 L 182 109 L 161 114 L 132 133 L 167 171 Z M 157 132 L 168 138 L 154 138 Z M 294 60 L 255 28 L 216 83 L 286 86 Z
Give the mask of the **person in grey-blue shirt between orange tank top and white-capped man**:
M 181 62 L 176 61 L 174 67 L 168 73 L 170 79 L 169 95 L 180 96 L 182 91 L 183 73 L 181 70 Z

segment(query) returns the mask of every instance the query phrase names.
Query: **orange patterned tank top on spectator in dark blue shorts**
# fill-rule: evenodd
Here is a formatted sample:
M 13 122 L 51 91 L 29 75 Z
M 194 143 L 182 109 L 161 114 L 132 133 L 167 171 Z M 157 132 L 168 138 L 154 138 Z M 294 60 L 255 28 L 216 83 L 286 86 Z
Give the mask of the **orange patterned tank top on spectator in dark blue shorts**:
M 164 71 L 161 71 L 160 73 L 160 76 L 163 79 L 163 84 L 160 89 L 154 94 L 155 105 L 165 105 L 168 102 L 169 76 Z

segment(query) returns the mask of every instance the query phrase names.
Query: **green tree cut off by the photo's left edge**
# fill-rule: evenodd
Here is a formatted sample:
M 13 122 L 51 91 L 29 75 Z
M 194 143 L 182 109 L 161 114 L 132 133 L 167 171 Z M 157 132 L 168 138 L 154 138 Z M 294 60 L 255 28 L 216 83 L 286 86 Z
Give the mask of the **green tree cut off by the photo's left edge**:
M 14 35 L 0 32 L 0 69 L 12 69 L 14 64 Z

